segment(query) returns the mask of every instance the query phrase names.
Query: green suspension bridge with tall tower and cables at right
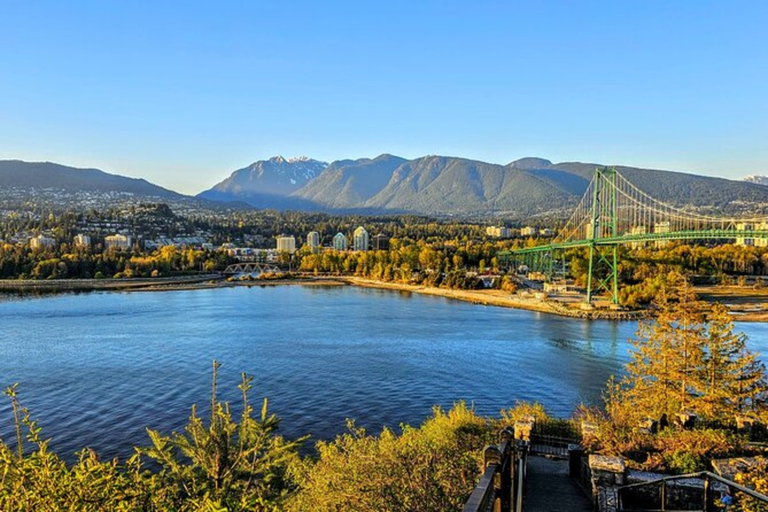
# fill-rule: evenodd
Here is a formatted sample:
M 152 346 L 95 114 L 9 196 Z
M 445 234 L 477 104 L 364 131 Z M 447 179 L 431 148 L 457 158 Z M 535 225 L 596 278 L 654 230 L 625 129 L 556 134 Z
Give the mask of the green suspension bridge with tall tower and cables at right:
M 618 247 L 670 240 L 731 240 L 768 246 L 768 218 L 744 219 L 701 215 L 659 201 L 613 168 L 595 169 L 592 181 L 571 218 L 551 243 L 499 254 L 516 268 L 526 266 L 552 279 L 565 272 L 565 252 L 589 249 L 587 302 L 597 293 L 618 304 Z

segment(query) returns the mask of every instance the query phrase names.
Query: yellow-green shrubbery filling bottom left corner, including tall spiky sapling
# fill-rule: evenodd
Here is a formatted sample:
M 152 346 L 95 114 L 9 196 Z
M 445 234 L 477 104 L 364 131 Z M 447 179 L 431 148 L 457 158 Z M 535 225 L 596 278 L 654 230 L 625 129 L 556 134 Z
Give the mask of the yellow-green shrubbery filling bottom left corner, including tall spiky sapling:
M 214 362 L 208 425 L 193 407 L 184 433 L 148 430 L 152 446 L 137 449 L 125 464 L 101 462 L 82 450 L 67 468 L 48 451 L 49 440 L 19 404 L 16 386 L 8 388 L 16 450 L 0 442 L 0 510 L 282 510 L 295 491 L 287 468 L 303 439 L 289 442 L 276 434 L 278 420 L 267 413 L 266 399 L 260 416 L 253 417 L 251 379 L 245 375 L 239 386 L 243 411 L 235 420 L 229 403 L 216 398 L 217 370 Z M 144 457 L 161 469 L 145 470 Z

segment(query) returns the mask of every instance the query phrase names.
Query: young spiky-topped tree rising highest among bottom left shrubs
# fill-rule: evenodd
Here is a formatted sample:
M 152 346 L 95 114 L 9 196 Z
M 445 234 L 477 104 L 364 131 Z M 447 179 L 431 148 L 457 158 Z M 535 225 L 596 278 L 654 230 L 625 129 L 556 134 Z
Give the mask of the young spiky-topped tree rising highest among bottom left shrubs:
M 147 429 L 152 446 L 142 453 L 163 468 L 166 485 L 199 510 L 280 510 L 289 487 L 286 470 L 306 440 L 286 441 L 277 435 L 278 419 L 267 412 L 264 399 L 259 417 L 253 417 L 248 393 L 251 377 L 242 375 L 240 421 L 228 402 L 216 396 L 219 364 L 213 363 L 210 421 L 206 426 L 195 407 L 185 433 L 163 436 Z

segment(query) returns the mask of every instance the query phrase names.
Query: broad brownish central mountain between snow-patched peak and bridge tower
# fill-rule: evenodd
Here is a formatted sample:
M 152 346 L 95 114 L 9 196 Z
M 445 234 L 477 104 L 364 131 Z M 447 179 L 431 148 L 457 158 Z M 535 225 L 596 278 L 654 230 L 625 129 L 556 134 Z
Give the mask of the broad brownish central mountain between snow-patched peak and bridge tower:
M 445 156 L 339 160 L 293 196 L 324 209 L 428 215 L 533 215 L 574 203 L 567 190 L 525 170 Z

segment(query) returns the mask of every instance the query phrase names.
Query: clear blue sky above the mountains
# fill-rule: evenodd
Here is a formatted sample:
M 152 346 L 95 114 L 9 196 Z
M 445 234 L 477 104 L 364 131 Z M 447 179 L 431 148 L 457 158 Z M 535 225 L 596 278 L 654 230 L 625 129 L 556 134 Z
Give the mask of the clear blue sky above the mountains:
M 768 174 L 768 2 L 0 0 L 0 159 L 198 193 L 275 155 Z

